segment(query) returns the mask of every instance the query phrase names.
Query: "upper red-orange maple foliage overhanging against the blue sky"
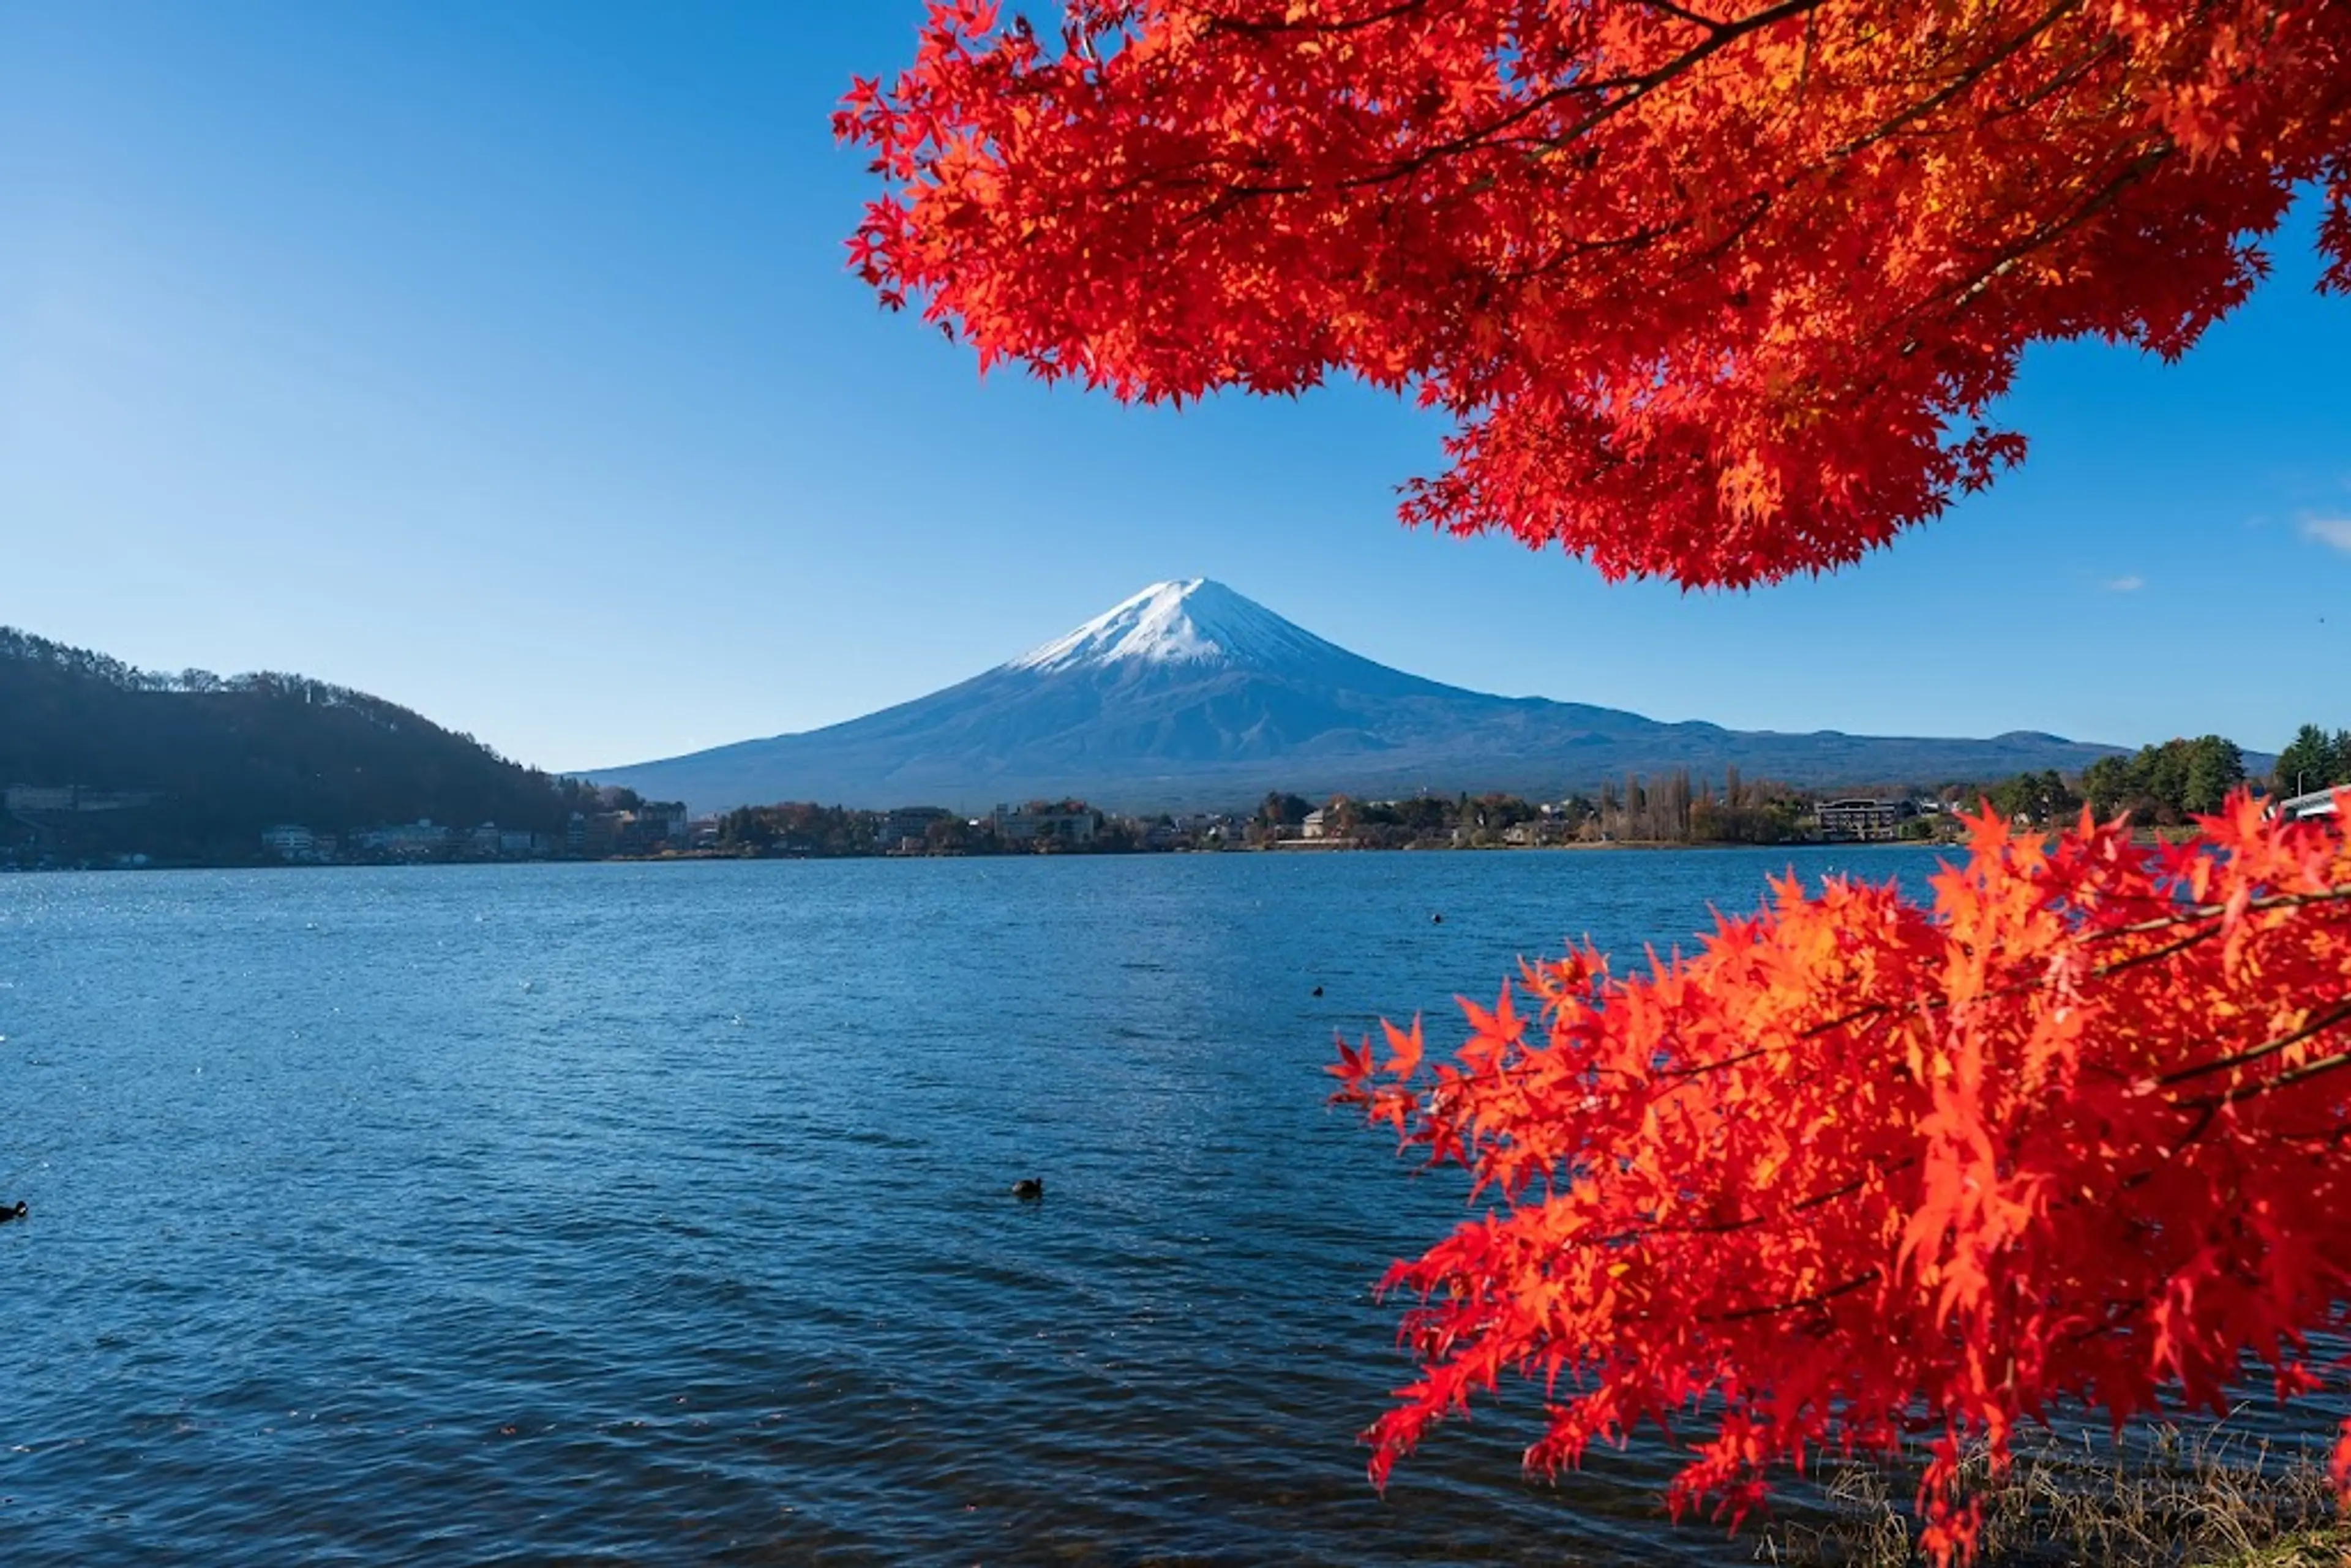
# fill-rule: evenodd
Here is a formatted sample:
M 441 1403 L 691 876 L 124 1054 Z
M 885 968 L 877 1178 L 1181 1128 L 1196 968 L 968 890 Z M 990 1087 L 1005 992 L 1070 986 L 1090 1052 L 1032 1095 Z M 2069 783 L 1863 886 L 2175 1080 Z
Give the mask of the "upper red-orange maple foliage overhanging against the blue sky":
M 2036 339 L 2182 353 L 2297 183 L 2351 284 L 2342 0 L 933 0 L 835 127 L 983 367 L 1328 374 L 1455 421 L 1404 515 L 1608 576 L 1857 559 L 2022 456 Z

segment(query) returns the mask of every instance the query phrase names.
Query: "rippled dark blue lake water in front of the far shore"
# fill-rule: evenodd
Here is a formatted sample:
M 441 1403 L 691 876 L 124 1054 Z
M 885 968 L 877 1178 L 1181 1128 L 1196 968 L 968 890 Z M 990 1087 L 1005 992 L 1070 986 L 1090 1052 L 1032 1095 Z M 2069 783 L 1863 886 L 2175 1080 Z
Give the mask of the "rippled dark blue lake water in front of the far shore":
M 1528 1394 L 1366 1486 L 1465 1182 L 1321 1070 L 1791 860 L 1933 867 L 5 877 L 0 1561 L 1751 1561 Z

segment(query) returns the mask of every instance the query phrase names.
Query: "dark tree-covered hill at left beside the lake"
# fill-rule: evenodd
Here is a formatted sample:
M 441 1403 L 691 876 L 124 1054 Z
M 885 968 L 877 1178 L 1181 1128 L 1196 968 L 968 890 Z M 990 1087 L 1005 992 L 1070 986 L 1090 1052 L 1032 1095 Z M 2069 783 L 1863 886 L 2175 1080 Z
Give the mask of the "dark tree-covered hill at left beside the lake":
M 0 844 L 42 835 L 61 856 L 261 858 L 261 832 L 301 823 L 498 823 L 560 832 L 588 785 L 498 757 L 473 736 L 299 675 L 153 675 L 0 628 L 0 788 L 129 797 L 113 809 L 0 813 Z

